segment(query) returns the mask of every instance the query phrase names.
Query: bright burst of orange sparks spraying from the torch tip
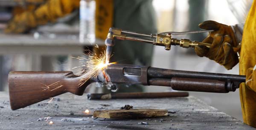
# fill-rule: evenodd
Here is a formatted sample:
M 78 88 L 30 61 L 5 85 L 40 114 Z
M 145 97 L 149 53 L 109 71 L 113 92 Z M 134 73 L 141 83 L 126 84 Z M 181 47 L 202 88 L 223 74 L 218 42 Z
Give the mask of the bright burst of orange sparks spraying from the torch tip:
M 87 54 L 84 54 L 86 58 L 83 57 L 72 57 L 79 60 L 81 66 L 73 67 L 73 72 L 76 75 L 81 76 L 78 87 L 81 87 L 86 81 L 90 78 L 96 78 L 99 73 L 107 67 L 109 64 L 115 63 L 106 63 L 106 52 L 101 52 L 100 55 L 87 50 Z M 71 76 L 71 75 L 69 75 Z

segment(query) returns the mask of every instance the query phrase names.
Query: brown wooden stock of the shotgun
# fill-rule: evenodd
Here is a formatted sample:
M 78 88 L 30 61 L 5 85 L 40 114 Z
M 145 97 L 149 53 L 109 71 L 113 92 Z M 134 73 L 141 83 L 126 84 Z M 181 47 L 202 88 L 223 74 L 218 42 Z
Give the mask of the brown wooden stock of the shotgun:
M 9 95 L 12 110 L 17 110 L 51 97 L 71 92 L 83 95 L 90 84 L 78 86 L 80 78 L 73 72 L 10 72 Z

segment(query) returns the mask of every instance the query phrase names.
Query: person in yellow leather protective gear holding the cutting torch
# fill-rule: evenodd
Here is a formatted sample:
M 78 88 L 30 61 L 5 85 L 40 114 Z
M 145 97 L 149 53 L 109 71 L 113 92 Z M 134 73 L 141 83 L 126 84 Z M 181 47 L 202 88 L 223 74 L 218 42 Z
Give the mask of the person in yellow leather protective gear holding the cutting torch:
M 232 69 L 239 63 L 239 74 L 246 75 L 246 82 L 241 83 L 239 89 L 242 114 L 244 123 L 256 127 L 256 0 L 245 24 L 227 26 L 209 20 L 199 27 L 215 31 L 203 40 L 212 46 L 209 49 L 197 46 L 196 54 L 214 60 L 226 69 Z

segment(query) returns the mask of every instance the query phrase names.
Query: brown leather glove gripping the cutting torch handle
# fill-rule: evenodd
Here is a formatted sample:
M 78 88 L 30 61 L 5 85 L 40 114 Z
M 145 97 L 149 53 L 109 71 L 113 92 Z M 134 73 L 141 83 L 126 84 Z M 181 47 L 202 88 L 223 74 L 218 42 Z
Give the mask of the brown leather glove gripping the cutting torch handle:
M 208 20 L 199 24 L 201 29 L 215 30 L 209 32 L 203 43 L 211 43 L 212 46 L 195 46 L 195 52 L 200 57 L 207 57 L 223 65 L 226 69 L 232 69 L 238 62 L 238 43 L 230 26 Z

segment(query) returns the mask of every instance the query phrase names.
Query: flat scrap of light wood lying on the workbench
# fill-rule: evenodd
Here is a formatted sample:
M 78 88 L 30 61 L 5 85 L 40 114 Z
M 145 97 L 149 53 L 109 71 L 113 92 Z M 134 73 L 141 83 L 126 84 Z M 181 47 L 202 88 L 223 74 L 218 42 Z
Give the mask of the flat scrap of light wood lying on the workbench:
M 96 110 L 93 117 L 99 118 L 143 118 L 166 116 L 165 109 Z

